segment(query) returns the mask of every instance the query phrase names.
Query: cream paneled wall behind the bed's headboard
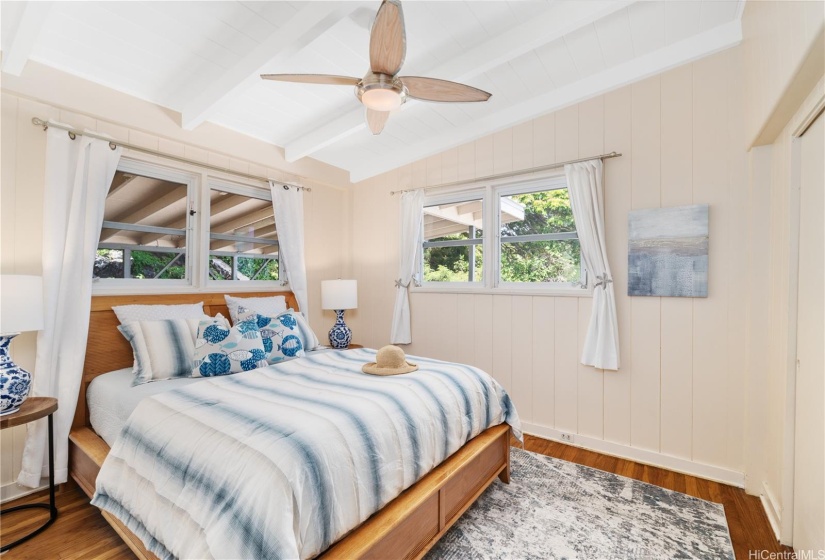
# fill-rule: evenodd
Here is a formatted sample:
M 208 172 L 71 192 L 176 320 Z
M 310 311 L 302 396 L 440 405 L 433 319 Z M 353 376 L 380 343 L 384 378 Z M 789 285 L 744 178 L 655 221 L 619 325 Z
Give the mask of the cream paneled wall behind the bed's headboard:
M 67 88 L 72 86 L 69 81 Z M 133 105 L 150 111 L 156 107 L 124 94 L 107 90 L 101 86 L 85 83 L 84 87 L 92 87 L 97 92 L 96 99 L 100 103 L 121 103 L 124 98 Z M 65 91 L 60 92 L 68 95 Z M 46 134 L 39 127 L 31 124 L 32 117 L 55 119 L 59 122 L 71 124 L 77 128 L 89 129 L 110 134 L 116 139 L 132 144 L 145 146 L 154 150 L 184 156 L 196 161 L 203 161 L 219 165 L 244 173 L 265 175 L 290 180 L 290 175 L 281 169 L 268 167 L 266 160 L 250 161 L 244 159 L 245 154 L 262 153 L 271 149 L 263 142 L 247 139 L 248 143 L 258 144 L 258 150 L 248 150 L 248 146 L 238 146 L 232 141 L 231 134 L 226 135 L 222 151 L 206 150 L 198 146 L 198 132 L 190 133 L 192 143 L 182 143 L 170 140 L 159 134 L 150 134 L 144 130 L 128 128 L 111 121 L 90 117 L 86 114 L 58 108 L 54 105 L 39 103 L 3 91 L 0 97 L 2 110 L 2 182 L 0 185 L 0 273 L 2 274 L 41 274 L 41 254 L 43 244 L 43 182 L 45 176 Z M 124 114 L 124 119 L 130 118 Z M 156 126 L 153 121 L 144 121 L 145 126 Z M 157 125 L 159 126 L 159 125 Z M 207 127 L 208 128 L 208 127 Z M 209 143 L 219 145 L 219 142 L 208 137 Z M 137 157 L 153 161 L 143 154 L 130 154 L 128 150 L 124 156 Z M 158 163 L 169 165 L 168 160 L 158 159 Z M 329 176 L 326 167 L 319 166 L 319 175 Z M 198 173 L 196 167 L 190 170 Z M 304 162 L 304 171 L 311 171 L 312 164 Z M 201 182 L 205 182 L 206 175 L 201 175 Z M 312 187 L 312 192 L 304 197 L 305 231 L 306 231 L 306 264 L 309 284 L 310 323 L 316 332 L 325 332 L 332 320 L 321 310 L 321 280 L 338 278 L 343 275 L 348 259 L 349 245 L 347 243 L 347 205 L 348 192 L 341 185 L 341 189 L 331 188 L 323 184 L 314 183 L 311 179 L 304 179 L 304 184 Z M 263 188 L 263 186 L 262 186 Z M 330 234 L 334 232 L 334 234 Z M 234 287 L 233 290 L 242 289 Z M 211 291 L 215 291 L 212 287 Z M 12 354 L 17 363 L 34 372 L 36 354 L 36 334 L 24 333 L 12 345 Z M 62 406 L 62 403 L 61 403 Z M 0 437 L 0 486 L 3 488 L 3 497 L 13 496 L 20 489 L 14 484 L 20 470 L 23 442 L 26 430 L 24 427 L 3 430 Z

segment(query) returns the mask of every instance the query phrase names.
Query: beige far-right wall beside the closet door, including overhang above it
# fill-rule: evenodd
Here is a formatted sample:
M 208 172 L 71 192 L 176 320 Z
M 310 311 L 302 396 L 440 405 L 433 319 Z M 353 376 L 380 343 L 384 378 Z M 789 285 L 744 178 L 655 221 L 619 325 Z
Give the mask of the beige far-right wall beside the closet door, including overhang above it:
M 799 200 L 794 133 L 825 95 L 825 3 L 748 2 L 742 21 L 749 208 L 746 472 L 785 544 L 795 399 Z

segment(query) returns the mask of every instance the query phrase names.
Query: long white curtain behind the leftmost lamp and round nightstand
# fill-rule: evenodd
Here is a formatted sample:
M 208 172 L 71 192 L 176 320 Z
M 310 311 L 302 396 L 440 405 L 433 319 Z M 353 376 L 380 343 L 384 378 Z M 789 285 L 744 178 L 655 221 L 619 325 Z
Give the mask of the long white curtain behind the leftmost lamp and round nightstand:
M 54 414 L 55 482 L 66 482 L 69 430 L 77 406 L 89 312 L 92 270 L 103 226 L 106 194 L 121 148 L 87 136 L 74 140 L 49 128 L 43 192 L 43 301 L 45 326 L 37 335 L 31 396 L 57 397 Z M 48 476 L 46 420 L 28 425 L 17 482 L 37 487 Z

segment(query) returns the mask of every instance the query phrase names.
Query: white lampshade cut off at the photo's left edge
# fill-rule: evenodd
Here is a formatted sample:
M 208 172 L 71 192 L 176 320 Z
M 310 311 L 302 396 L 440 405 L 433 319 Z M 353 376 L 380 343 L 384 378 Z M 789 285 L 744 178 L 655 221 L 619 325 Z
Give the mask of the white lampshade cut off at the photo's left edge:
M 43 328 L 43 279 L 40 276 L 0 276 L 0 334 Z

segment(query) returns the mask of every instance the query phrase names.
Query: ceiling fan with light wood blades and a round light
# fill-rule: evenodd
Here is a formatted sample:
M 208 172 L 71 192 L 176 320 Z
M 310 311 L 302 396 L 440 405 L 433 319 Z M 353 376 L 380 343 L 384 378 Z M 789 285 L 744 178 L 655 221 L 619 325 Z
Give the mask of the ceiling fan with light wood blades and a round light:
M 398 76 L 407 50 L 404 13 L 400 0 L 383 0 L 370 32 L 370 69 L 363 78 L 327 74 L 261 74 L 265 80 L 355 86 L 355 95 L 367 108 L 367 125 L 381 134 L 390 111 L 408 97 L 423 101 L 487 101 L 489 93 L 436 78 Z

